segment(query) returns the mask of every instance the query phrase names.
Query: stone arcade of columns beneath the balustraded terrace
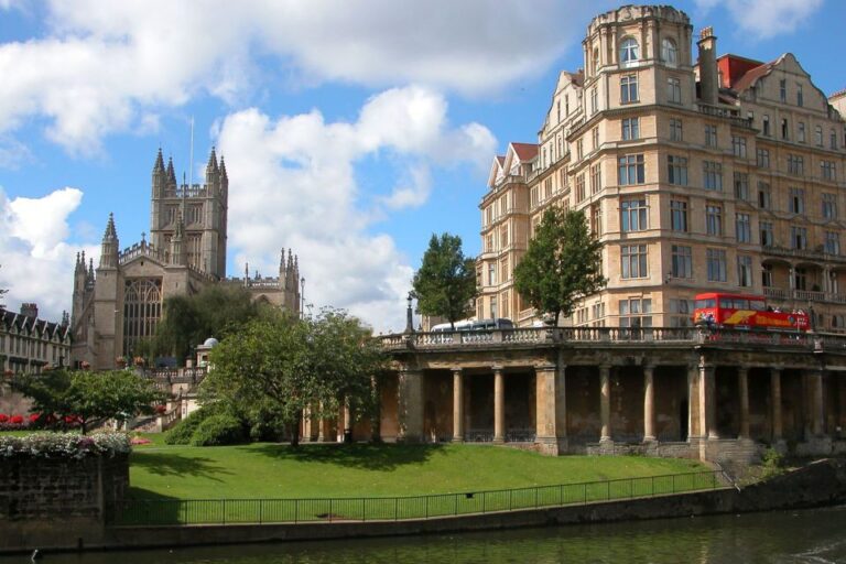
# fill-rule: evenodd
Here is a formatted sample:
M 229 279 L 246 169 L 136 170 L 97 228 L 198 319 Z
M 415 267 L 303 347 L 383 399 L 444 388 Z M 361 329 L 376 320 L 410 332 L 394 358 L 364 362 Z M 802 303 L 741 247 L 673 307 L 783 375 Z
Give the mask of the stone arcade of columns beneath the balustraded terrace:
M 846 452 L 846 355 L 647 344 L 398 349 L 378 421 L 311 420 L 304 441 L 491 442 L 556 455 L 750 460 Z M 338 425 L 337 423 L 341 424 Z

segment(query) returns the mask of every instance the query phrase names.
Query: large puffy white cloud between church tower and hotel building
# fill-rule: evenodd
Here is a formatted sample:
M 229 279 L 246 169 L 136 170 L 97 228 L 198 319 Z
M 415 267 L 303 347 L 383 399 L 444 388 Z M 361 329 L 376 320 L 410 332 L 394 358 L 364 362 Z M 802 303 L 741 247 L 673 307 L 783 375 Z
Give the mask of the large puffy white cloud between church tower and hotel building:
M 456 142 L 452 151 L 446 144 Z M 432 189 L 433 162 L 487 160 L 496 149 L 482 126 L 451 127 L 442 96 L 422 87 L 372 97 L 354 122 L 326 122 L 313 110 L 275 120 L 257 109 L 229 115 L 218 147 L 229 182 L 229 241 L 236 262 L 257 259 L 275 270 L 281 247 L 302 258 L 305 299 L 350 310 L 377 330 L 404 326 L 412 268 L 393 240 L 370 232 L 370 209 L 419 206 Z M 399 170 L 397 188 L 364 200 L 356 184 L 360 161 L 388 152 Z

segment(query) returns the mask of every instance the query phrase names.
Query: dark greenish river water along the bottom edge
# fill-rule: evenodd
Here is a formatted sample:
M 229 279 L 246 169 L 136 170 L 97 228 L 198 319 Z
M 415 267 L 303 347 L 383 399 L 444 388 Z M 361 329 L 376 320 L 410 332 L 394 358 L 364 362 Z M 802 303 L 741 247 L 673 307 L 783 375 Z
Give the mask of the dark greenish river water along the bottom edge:
M 29 556 L 0 557 L 26 563 Z M 360 541 L 85 554 L 44 564 L 846 563 L 846 506 Z

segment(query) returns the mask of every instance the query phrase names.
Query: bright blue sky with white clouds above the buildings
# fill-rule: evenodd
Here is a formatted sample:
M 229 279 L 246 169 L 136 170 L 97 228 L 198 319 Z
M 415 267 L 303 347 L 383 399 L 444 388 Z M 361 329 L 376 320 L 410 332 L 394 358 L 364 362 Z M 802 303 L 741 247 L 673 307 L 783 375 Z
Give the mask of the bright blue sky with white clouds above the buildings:
M 479 252 L 492 159 L 535 142 L 561 70 L 583 66 L 604 0 L 0 0 L 0 289 L 70 310 L 109 213 L 149 230 L 159 148 L 229 174 L 227 273 L 300 258 L 305 302 L 401 330 L 433 234 Z M 717 51 L 796 55 L 846 87 L 842 0 L 683 0 Z M 833 50 L 834 46 L 834 51 Z M 192 166 L 192 122 L 193 166 Z

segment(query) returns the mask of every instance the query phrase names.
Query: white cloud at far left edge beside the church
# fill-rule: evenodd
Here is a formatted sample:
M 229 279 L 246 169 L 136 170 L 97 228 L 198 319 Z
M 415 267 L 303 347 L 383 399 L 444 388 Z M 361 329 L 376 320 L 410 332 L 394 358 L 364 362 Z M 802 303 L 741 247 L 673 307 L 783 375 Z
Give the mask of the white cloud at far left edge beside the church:
M 41 198 L 8 199 L 0 188 L 0 288 L 8 289 L 7 306 L 36 302 L 39 315 L 59 321 L 68 307 L 76 252 L 94 245 L 67 242 L 67 217 L 77 208 L 83 193 L 62 188 Z

